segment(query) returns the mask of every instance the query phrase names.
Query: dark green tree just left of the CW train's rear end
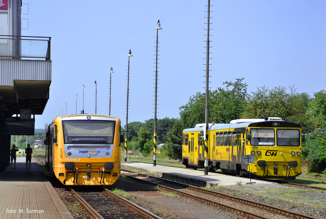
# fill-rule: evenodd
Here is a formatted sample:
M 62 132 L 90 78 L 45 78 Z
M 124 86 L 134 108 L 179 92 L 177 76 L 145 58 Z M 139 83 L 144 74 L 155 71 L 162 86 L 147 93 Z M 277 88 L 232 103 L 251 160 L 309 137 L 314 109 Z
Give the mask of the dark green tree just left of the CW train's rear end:
M 165 144 L 160 150 L 163 156 L 168 156 L 172 159 L 182 158 L 182 131 L 181 121 L 177 120 L 165 137 Z

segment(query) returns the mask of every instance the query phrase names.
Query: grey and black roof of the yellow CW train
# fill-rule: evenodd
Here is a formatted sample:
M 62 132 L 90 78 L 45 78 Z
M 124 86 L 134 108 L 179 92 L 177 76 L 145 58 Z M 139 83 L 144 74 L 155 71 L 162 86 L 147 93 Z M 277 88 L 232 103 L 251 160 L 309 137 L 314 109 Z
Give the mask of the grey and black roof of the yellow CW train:
M 245 122 L 244 120 L 249 120 Z M 279 127 L 279 128 L 301 128 L 301 125 L 294 122 L 285 122 L 283 120 L 268 120 L 265 121 L 264 119 L 244 119 L 240 122 L 233 122 L 233 123 L 217 123 L 211 124 L 209 126 L 209 131 L 211 130 L 220 130 L 220 129 L 236 129 L 236 128 L 247 128 L 247 127 Z M 236 120 L 232 120 L 236 121 Z M 189 128 L 183 130 L 183 132 L 196 132 L 196 131 L 203 131 L 204 126 L 196 126 L 195 128 Z

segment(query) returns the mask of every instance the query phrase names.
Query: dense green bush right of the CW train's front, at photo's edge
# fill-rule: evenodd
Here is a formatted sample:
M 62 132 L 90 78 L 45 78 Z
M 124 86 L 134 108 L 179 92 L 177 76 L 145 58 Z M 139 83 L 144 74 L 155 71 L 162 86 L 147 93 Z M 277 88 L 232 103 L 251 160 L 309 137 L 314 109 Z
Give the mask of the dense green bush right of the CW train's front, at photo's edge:
M 305 135 L 302 155 L 308 159 L 310 167 L 318 171 L 326 167 L 326 128 L 317 128 Z

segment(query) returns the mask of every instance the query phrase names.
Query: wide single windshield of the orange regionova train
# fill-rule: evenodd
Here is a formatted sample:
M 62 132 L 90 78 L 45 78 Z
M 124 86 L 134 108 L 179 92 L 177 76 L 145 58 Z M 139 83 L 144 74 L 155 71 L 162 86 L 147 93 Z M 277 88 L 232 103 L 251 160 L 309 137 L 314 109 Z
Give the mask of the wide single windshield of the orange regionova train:
M 113 144 L 115 121 L 62 121 L 65 144 Z

